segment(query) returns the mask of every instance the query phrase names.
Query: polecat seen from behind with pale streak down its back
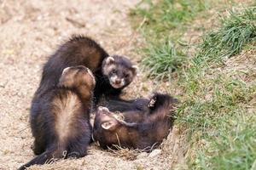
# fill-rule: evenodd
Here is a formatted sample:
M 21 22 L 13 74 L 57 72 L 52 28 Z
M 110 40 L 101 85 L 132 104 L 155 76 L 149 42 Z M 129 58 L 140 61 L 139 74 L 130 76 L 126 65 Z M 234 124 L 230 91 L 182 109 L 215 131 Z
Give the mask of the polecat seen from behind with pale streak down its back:
M 90 108 L 95 78 L 83 65 L 67 67 L 58 84 L 34 100 L 30 122 L 36 155 L 21 169 L 52 158 L 86 155 L 92 127 Z M 66 153 L 65 153 L 66 152 Z

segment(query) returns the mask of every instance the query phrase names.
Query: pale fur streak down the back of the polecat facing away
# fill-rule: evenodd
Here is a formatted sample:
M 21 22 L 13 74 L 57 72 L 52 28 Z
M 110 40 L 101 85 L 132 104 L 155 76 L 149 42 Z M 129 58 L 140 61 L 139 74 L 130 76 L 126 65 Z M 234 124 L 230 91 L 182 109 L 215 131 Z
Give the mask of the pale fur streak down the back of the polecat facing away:
M 72 123 L 75 112 L 80 108 L 80 100 L 76 94 L 68 93 L 67 98 L 54 99 L 55 131 L 59 140 L 64 142 L 72 132 Z

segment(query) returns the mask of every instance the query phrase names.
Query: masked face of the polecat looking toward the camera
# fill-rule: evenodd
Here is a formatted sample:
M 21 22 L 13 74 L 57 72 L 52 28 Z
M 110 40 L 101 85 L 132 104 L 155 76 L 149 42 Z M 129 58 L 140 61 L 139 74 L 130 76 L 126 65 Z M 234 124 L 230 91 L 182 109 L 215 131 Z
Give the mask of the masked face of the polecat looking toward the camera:
M 103 75 L 113 88 L 123 88 L 129 85 L 137 75 L 137 66 L 132 65 L 131 61 L 123 56 L 112 55 L 103 60 Z

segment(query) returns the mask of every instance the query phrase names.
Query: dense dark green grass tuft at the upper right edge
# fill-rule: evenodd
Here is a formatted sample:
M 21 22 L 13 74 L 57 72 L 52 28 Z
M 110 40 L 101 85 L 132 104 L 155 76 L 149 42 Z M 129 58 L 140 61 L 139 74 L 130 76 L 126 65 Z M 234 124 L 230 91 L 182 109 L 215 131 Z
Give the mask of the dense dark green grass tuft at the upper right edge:
M 209 31 L 195 56 L 195 65 L 205 65 L 210 61 L 222 61 L 234 54 L 239 54 L 248 42 L 256 38 L 256 9 L 248 8 L 241 14 L 230 11 L 229 17 L 222 18 L 222 26 L 217 31 Z

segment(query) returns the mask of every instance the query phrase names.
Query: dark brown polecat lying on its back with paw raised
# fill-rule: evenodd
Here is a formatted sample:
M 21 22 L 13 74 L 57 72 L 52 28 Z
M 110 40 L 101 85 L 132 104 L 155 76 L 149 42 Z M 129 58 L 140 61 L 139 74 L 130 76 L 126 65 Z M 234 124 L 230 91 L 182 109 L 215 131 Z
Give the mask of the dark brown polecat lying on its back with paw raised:
M 177 99 L 168 94 L 154 94 L 151 99 L 139 99 L 130 103 L 129 105 L 135 105 L 131 106 L 131 111 L 126 108 L 123 112 L 113 112 L 106 107 L 98 107 L 93 138 L 103 149 L 115 144 L 150 151 L 167 137 L 172 128 L 172 114 L 176 103 Z M 144 106 L 136 109 L 138 104 Z

